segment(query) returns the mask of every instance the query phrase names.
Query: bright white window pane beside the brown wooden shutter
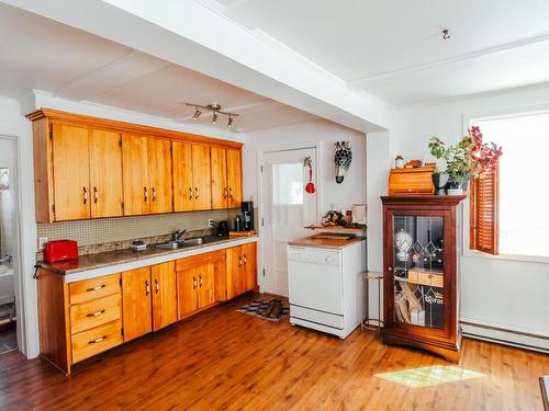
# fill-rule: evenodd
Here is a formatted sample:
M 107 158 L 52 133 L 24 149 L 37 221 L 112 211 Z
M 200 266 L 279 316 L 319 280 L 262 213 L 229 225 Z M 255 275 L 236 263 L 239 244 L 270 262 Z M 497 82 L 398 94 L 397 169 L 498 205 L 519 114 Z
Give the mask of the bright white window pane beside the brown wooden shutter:
M 475 121 L 500 158 L 500 253 L 549 256 L 549 113 Z

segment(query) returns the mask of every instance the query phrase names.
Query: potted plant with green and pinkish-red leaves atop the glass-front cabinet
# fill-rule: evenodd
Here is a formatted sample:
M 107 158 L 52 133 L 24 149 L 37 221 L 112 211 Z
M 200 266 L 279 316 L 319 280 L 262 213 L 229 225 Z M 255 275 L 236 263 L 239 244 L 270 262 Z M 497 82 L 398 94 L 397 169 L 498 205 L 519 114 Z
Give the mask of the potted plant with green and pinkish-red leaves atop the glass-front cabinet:
M 482 141 L 482 133 L 478 126 L 471 127 L 469 135 L 453 146 L 447 146 L 440 138 L 433 136 L 429 140 L 429 150 L 436 159 L 444 159 L 446 162 L 446 171 L 434 176 L 433 182 L 435 186 L 439 186 L 437 183 L 442 183 L 440 175 L 446 173 L 449 195 L 463 194 L 469 179 L 478 178 L 493 169 L 502 155 L 501 147 L 494 142 Z

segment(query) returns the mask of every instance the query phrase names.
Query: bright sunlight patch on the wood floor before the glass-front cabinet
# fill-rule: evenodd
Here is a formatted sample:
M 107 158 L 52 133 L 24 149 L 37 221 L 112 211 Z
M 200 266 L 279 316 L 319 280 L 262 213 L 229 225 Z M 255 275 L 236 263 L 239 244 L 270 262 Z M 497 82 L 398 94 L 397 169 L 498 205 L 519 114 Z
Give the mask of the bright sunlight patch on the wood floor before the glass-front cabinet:
M 484 374 L 463 369 L 456 365 L 434 365 L 432 367 L 376 374 L 376 377 L 402 384 L 411 388 L 421 388 L 445 383 L 462 381 L 469 378 L 484 377 Z

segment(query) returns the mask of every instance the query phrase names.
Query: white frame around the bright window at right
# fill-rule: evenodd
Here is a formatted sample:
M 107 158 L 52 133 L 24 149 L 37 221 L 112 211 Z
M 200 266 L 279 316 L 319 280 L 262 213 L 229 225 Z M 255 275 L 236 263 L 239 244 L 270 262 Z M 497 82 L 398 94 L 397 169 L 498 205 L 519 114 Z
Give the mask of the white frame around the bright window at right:
M 535 115 L 535 114 L 549 114 L 549 103 L 466 112 L 461 116 L 462 135 L 466 136 L 469 133 L 469 128 L 471 127 L 471 125 L 474 125 L 474 122 L 478 121 L 509 118 L 509 117 L 518 117 L 518 116 Z M 470 237 L 470 226 L 469 226 L 471 218 L 470 208 L 471 208 L 471 199 L 470 196 L 468 195 L 466 201 L 463 202 L 463 207 L 461 213 L 461 220 L 462 220 L 461 254 L 464 258 L 549 263 L 549 256 L 545 255 L 526 255 L 526 254 L 508 254 L 508 253 L 498 253 L 497 255 L 493 255 L 482 251 L 471 250 L 470 249 L 471 237 Z

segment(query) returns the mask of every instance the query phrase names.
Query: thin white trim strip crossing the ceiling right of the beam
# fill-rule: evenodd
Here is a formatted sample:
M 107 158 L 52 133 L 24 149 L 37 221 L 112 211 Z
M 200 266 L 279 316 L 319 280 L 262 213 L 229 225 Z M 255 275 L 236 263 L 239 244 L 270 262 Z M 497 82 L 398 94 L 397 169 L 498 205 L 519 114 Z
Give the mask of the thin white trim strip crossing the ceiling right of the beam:
M 520 47 L 525 47 L 525 46 L 528 46 L 531 44 L 542 43 L 542 42 L 547 42 L 547 41 L 549 41 L 549 33 L 542 34 L 539 36 L 535 36 L 535 37 L 524 38 L 524 39 L 520 39 L 517 42 L 505 43 L 505 44 L 501 44 L 497 46 L 483 48 L 481 50 L 477 50 L 477 52 L 472 52 L 472 53 L 466 53 L 466 54 L 462 54 L 459 56 L 446 58 L 446 59 L 434 61 L 434 62 L 428 62 L 425 65 L 410 67 L 410 68 L 405 68 L 402 70 L 388 71 L 388 72 L 383 72 L 383 73 L 379 73 L 379 75 L 359 78 L 356 80 L 350 80 L 347 82 L 347 87 L 351 90 L 363 90 L 368 85 L 370 85 L 369 83 L 371 83 L 372 81 L 385 80 L 385 79 L 390 79 L 393 77 L 407 75 L 411 72 L 427 70 L 430 68 L 436 68 L 436 67 L 441 67 L 441 66 L 447 66 L 450 64 L 466 61 L 466 60 L 470 60 L 473 58 L 483 57 L 483 56 L 488 56 L 488 55 L 500 53 L 500 52 L 511 50 L 514 48 L 520 48 Z

